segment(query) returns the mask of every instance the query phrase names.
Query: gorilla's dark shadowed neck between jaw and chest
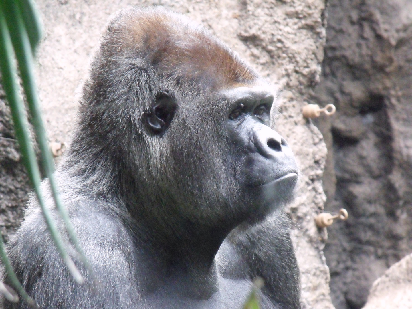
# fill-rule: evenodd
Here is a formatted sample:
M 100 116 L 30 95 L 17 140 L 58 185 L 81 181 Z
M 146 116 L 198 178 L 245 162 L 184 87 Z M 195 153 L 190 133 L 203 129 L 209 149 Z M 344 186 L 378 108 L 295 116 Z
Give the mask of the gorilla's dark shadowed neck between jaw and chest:
M 153 261 L 152 267 L 161 273 L 164 286 L 197 299 L 208 299 L 217 291 L 215 255 L 230 228 L 191 223 L 183 218 L 162 220 L 141 208 L 136 211 L 136 206 L 129 204 L 127 208 L 134 221 L 131 224 L 136 231 L 136 246 L 146 244 L 150 256 L 144 258 Z

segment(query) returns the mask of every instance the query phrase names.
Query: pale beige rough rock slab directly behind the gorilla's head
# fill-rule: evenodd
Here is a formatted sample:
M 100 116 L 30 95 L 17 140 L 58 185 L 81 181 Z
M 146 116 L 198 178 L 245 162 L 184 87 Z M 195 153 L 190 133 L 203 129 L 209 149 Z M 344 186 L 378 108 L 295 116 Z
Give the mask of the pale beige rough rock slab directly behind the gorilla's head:
M 325 232 L 314 224 L 323 209 L 321 176 L 326 147 L 320 131 L 303 119 L 304 98 L 318 82 L 325 42 L 324 0 L 111 1 L 38 0 L 45 38 L 38 49 L 38 85 L 51 141 L 70 143 L 80 81 L 113 12 L 126 5 L 163 5 L 203 23 L 284 89 L 278 131 L 292 147 L 302 175 L 288 211 L 302 272 L 307 308 L 333 309 L 322 253 Z

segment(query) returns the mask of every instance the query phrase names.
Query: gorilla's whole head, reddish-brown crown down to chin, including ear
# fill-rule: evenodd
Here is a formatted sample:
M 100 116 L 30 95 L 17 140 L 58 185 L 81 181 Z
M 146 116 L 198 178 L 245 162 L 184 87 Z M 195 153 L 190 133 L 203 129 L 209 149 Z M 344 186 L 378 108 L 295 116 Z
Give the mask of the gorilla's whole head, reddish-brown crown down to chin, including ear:
M 183 16 L 123 11 L 92 63 L 69 162 L 157 240 L 213 234 L 217 250 L 234 227 L 292 196 L 295 159 L 269 128 L 275 96 Z

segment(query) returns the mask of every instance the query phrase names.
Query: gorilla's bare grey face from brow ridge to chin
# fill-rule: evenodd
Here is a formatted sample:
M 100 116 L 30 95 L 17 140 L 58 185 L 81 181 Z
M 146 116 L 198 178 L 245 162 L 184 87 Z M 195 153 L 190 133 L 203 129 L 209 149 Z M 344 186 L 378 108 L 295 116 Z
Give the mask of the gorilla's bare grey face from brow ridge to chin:
M 265 88 L 238 87 L 223 93 L 230 102 L 226 119 L 229 152 L 239 162 L 242 195 L 253 200 L 251 220 L 262 219 L 290 201 L 298 173 L 286 140 L 269 127 L 274 95 Z

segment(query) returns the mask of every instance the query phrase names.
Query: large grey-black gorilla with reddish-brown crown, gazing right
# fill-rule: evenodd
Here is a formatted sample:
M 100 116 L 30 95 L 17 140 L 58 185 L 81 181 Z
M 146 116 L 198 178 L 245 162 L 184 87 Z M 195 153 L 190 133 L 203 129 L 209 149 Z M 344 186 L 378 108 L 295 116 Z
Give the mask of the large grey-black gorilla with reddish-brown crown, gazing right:
M 71 277 L 32 197 L 8 252 L 38 307 L 243 308 L 259 277 L 262 308 L 301 308 L 283 213 L 298 169 L 269 127 L 275 99 L 237 54 L 184 16 L 159 7 L 117 13 L 55 172 L 94 279 L 44 182 L 88 283 Z

